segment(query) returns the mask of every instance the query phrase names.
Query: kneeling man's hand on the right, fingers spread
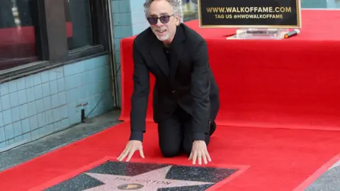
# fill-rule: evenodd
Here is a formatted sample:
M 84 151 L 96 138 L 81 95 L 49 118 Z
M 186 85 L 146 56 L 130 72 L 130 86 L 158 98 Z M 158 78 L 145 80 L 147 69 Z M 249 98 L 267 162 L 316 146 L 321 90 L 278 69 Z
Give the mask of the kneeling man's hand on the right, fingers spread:
M 193 164 L 196 164 L 196 159 L 198 159 L 198 164 L 201 165 L 202 158 L 205 164 L 207 164 L 208 161 L 211 162 L 211 158 L 207 150 L 207 144 L 205 144 L 205 141 L 193 141 L 193 149 L 191 149 L 191 154 L 188 160 L 190 161 L 192 159 Z

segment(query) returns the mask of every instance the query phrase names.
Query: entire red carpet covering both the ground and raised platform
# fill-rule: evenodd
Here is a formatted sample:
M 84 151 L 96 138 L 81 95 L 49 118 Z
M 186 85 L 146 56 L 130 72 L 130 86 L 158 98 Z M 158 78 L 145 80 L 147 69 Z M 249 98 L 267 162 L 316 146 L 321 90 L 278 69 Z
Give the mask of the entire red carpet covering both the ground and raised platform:
M 302 13 L 301 35 L 288 40 L 225 40 L 234 30 L 198 29 L 207 38 L 221 96 L 210 166 L 247 167 L 210 190 L 302 190 L 340 153 L 340 131 L 316 130 L 340 129 L 340 25 L 334 23 L 340 11 Z M 0 190 L 40 190 L 123 151 L 130 131 L 132 41 L 121 41 L 120 119 L 126 122 L 0 173 Z M 188 164 L 185 156 L 162 158 L 155 127 L 147 124 L 146 158 L 132 161 Z

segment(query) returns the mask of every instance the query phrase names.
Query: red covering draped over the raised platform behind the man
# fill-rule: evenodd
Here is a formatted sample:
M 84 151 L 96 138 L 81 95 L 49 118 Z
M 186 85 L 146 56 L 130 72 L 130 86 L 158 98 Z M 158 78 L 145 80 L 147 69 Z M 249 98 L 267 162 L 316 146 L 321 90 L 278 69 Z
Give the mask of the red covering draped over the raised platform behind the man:
M 226 40 L 235 29 L 186 24 L 208 42 L 220 87 L 218 124 L 340 129 L 340 11 L 302 11 L 301 34 L 288 40 Z M 130 115 L 133 39 L 121 40 L 120 120 Z

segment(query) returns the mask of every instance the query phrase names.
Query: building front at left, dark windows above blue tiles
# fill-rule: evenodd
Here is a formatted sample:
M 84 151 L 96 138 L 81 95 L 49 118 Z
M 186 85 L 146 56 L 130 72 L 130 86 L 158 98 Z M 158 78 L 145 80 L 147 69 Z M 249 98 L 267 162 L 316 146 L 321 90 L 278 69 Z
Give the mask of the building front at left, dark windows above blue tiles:
M 0 1 L 0 151 L 117 105 L 110 6 Z

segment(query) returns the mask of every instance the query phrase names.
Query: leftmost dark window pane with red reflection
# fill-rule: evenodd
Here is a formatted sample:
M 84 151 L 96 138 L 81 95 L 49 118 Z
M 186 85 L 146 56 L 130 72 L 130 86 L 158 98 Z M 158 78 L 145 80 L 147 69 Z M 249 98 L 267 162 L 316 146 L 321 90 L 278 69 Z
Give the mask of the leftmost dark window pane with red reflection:
M 0 70 L 38 60 L 37 1 L 0 1 Z

